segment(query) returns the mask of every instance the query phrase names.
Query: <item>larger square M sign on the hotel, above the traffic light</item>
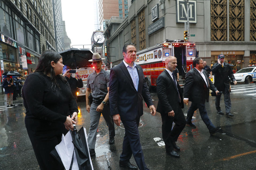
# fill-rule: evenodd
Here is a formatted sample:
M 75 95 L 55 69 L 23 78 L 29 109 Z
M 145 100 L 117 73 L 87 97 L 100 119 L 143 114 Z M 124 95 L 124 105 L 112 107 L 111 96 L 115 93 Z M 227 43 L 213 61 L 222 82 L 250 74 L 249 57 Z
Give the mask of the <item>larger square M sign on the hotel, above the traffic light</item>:
M 189 0 L 189 11 L 187 12 L 187 3 L 183 0 L 176 0 L 176 22 L 187 22 L 187 17 L 189 17 L 189 23 L 197 23 L 197 1 Z

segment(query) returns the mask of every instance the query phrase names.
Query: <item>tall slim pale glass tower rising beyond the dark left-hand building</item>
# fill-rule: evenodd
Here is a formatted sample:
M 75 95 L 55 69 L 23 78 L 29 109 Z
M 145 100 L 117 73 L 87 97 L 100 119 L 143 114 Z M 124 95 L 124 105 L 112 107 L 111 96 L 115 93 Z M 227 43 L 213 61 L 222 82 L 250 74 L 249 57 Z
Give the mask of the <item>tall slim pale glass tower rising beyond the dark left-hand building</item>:
M 53 2 L 53 23 L 54 23 L 54 35 L 55 35 L 55 49 L 57 52 L 64 49 L 64 29 L 65 25 L 62 22 L 62 8 L 61 0 L 52 0 Z

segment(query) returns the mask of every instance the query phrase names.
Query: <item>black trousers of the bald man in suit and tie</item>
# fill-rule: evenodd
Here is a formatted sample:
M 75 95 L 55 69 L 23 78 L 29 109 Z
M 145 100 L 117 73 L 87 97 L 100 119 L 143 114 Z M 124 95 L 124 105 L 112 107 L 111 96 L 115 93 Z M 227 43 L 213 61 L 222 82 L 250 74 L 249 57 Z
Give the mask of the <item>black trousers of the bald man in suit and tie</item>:
M 178 112 L 174 112 L 174 117 L 168 116 L 167 113 L 162 114 L 162 135 L 165 142 L 167 152 L 173 150 L 172 142 L 176 142 L 182 130 L 186 126 L 186 120 L 182 109 L 179 107 Z M 173 126 L 173 122 L 175 125 Z M 173 128 L 172 128 L 173 126 Z

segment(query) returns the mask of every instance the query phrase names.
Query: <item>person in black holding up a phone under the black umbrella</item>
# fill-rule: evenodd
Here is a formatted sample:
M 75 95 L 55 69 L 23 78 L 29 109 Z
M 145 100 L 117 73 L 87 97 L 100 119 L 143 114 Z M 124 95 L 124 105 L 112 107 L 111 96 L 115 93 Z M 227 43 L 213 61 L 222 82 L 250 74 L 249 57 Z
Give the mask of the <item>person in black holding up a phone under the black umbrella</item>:
M 71 92 L 75 100 L 77 100 L 77 87 L 78 88 L 83 87 L 83 80 L 80 78 L 80 74 L 78 72 L 75 73 L 78 79 L 72 77 L 71 73 L 69 73 L 70 70 L 71 70 L 70 67 L 65 65 L 63 67 L 63 77 L 67 79 L 67 82 L 69 83 L 69 86 L 71 88 Z

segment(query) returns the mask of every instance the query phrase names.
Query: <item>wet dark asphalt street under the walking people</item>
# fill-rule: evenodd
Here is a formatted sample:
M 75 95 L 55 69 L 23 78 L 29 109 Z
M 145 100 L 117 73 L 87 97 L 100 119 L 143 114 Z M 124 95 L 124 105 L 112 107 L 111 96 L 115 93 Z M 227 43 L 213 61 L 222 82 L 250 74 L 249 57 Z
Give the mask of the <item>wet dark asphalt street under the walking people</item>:
M 254 86 L 255 87 L 255 84 Z M 256 87 L 254 88 L 256 90 Z M 151 91 L 154 105 L 157 107 L 156 92 Z M 164 169 L 256 169 L 256 94 L 246 95 L 234 93 L 231 96 L 231 113 L 227 117 L 216 113 L 215 98 L 210 96 L 206 109 L 210 120 L 222 131 L 210 136 L 203 123 L 199 111 L 195 111 L 192 123 L 193 129 L 185 126 L 177 145 L 181 147 L 180 158 L 173 158 L 165 153 L 162 139 L 161 115 L 149 114 L 144 105 L 139 133 L 142 150 L 147 167 L 151 170 Z M 4 95 L 0 99 L 0 170 L 9 169 L 39 169 L 29 137 L 24 124 L 25 108 L 22 98 L 18 98 L 13 108 L 6 108 Z M 90 115 L 86 111 L 85 100 L 78 102 L 77 129 L 84 126 L 89 131 Z M 221 108 L 225 111 L 223 95 Z M 188 106 L 183 112 L 186 117 Z M 125 170 L 119 167 L 119 156 L 122 152 L 122 141 L 125 130 L 123 126 L 115 126 L 115 144 L 109 145 L 108 128 L 101 116 L 96 141 L 96 157 L 92 158 L 95 170 Z M 133 157 L 131 163 L 136 164 Z

